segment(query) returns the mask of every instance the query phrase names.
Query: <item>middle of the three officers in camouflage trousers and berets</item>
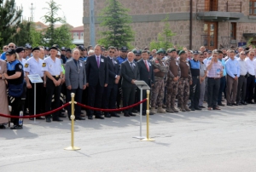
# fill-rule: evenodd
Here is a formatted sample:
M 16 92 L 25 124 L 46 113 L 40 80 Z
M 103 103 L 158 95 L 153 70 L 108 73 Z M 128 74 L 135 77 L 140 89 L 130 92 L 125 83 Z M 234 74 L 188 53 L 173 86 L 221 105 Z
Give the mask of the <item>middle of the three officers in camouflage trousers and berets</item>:
M 166 78 L 166 112 L 178 112 L 175 106 L 175 98 L 177 95 L 178 79 L 180 77 L 180 68 L 177 64 L 176 49 L 167 50 L 168 58 L 166 59 L 166 66 L 169 66 L 169 71 Z

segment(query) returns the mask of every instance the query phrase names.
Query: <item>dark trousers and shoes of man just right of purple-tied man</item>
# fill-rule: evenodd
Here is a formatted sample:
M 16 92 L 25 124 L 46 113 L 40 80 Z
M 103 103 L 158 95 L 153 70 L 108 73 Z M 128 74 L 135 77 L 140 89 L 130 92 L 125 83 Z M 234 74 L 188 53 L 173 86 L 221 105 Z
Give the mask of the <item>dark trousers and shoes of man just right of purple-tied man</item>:
M 115 109 L 115 101 L 118 93 L 118 85 L 108 85 L 108 87 L 104 88 L 103 94 L 103 108 L 105 109 Z M 108 114 L 108 112 L 104 112 Z M 115 114 L 115 112 L 109 112 L 110 114 Z

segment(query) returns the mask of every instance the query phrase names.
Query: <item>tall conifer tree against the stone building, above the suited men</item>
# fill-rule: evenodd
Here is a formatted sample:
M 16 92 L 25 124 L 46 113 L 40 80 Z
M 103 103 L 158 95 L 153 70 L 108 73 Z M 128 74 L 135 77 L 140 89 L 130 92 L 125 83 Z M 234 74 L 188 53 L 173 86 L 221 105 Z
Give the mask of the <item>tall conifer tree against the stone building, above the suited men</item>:
M 102 38 L 98 43 L 105 47 L 129 46 L 134 40 L 134 32 L 131 30 L 131 16 L 129 9 L 125 9 L 118 0 L 107 0 L 106 8 L 100 14 L 100 26 L 107 27 L 107 31 L 101 32 Z

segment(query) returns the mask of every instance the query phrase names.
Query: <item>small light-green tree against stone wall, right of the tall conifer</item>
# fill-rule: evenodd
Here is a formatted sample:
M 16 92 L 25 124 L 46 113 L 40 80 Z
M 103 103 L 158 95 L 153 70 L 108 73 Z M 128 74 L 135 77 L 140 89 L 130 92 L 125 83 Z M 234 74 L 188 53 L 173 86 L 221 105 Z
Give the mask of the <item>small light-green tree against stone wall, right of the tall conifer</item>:
M 157 40 L 153 40 L 150 43 L 150 49 L 170 49 L 173 47 L 172 43 L 172 37 L 176 35 L 176 33 L 173 33 L 170 29 L 170 24 L 167 22 L 168 17 L 166 17 L 165 20 L 162 20 L 162 22 L 165 22 L 165 26 L 163 29 L 163 32 L 160 32 L 158 34 Z

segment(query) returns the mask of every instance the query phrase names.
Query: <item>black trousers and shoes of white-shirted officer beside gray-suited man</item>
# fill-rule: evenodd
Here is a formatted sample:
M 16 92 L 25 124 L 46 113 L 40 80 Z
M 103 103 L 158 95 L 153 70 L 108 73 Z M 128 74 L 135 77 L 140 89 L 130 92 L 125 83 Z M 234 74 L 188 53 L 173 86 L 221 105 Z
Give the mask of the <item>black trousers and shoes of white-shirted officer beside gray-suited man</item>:
M 55 78 L 58 79 L 58 78 Z M 46 79 L 46 102 L 45 111 L 49 112 L 51 110 L 52 96 L 55 95 L 55 101 L 53 102 L 52 108 L 60 107 L 60 96 L 61 96 L 61 85 L 55 86 L 55 83 L 47 77 Z M 53 118 L 58 118 L 59 112 L 53 114 Z M 50 115 L 45 116 L 45 118 L 50 118 Z

